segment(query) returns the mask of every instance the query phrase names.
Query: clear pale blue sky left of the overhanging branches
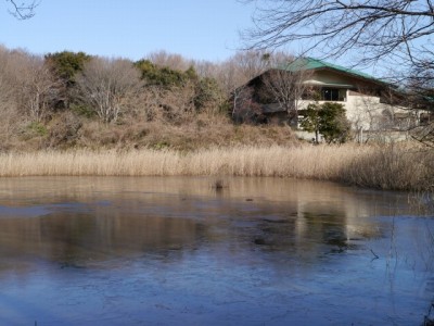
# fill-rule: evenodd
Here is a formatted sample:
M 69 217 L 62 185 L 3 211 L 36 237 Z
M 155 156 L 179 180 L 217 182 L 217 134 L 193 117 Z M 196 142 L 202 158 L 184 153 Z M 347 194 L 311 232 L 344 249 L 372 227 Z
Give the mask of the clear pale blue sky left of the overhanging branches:
M 0 43 L 44 54 L 63 50 L 139 60 L 165 50 L 222 61 L 241 47 L 254 10 L 237 0 L 41 0 L 17 21 L 0 3 Z

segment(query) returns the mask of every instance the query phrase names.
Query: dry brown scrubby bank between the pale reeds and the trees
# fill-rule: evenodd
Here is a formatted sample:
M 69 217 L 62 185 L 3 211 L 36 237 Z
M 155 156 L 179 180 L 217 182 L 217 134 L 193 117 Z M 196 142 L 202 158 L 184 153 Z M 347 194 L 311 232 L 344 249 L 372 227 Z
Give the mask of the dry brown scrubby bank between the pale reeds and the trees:
M 0 152 L 41 150 L 195 149 L 297 143 L 288 126 L 234 125 L 227 116 L 197 114 L 178 123 L 164 120 L 103 124 L 72 114 L 54 116 L 48 126 L 23 125 L 12 136 L 1 133 Z

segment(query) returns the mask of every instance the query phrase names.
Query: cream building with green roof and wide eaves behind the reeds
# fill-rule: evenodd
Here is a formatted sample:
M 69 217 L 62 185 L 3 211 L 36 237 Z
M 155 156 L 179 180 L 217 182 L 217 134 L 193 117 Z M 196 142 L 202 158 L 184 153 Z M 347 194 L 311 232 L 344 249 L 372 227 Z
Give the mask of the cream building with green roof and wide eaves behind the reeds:
M 396 88 L 356 70 L 311 58 L 269 70 L 233 93 L 238 122 L 280 123 L 297 127 L 314 100 L 342 103 L 353 129 L 361 133 L 407 130 L 420 124 L 421 112 Z M 426 120 L 424 114 L 423 120 Z

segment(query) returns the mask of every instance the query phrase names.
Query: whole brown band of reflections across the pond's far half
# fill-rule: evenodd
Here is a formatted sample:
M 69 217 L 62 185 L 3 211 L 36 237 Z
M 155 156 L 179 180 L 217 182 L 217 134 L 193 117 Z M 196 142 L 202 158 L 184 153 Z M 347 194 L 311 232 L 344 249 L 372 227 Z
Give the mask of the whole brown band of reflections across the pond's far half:
M 49 214 L 3 215 L 0 255 L 86 265 L 155 251 L 181 258 L 186 249 L 206 247 L 216 256 L 254 248 L 315 260 L 346 250 L 353 239 L 381 237 L 365 217 L 397 210 L 395 196 L 327 183 L 226 183 L 216 193 L 209 178 L 5 179 L 0 205 L 43 206 Z

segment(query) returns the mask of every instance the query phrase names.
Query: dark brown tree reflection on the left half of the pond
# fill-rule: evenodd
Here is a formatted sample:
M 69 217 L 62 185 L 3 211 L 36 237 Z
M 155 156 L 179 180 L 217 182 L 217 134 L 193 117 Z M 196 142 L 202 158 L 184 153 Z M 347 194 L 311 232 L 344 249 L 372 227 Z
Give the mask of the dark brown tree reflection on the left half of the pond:
M 140 255 L 181 252 L 196 242 L 202 226 L 192 220 L 131 216 L 110 208 L 100 214 L 53 213 L 40 218 L 0 220 L 1 256 L 34 256 L 65 266 Z

